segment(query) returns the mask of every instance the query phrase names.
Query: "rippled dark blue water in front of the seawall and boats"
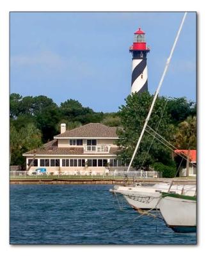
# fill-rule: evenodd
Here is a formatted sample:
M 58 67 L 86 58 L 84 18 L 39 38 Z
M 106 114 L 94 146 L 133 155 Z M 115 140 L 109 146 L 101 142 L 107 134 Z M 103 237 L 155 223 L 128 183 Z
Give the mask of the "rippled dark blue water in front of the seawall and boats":
M 196 244 L 161 219 L 138 218 L 110 185 L 11 185 L 11 244 Z

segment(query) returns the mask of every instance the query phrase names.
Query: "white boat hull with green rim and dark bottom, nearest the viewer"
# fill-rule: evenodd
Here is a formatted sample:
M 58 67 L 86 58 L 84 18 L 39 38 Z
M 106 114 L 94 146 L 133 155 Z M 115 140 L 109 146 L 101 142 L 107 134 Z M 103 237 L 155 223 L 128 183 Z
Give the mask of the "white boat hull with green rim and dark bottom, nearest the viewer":
M 159 208 L 168 227 L 176 232 L 196 231 L 196 201 L 166 196 Z

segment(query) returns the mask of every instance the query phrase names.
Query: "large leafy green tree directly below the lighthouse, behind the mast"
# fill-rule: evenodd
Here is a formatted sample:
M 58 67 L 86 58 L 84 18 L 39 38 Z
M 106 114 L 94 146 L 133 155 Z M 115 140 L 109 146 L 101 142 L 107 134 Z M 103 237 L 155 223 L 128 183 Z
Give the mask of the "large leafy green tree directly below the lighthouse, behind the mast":
M 123 160 L 123 163 L 128 163 L 131 160 L 139 135 L 145 124 L 145 118 L 148 115 L 152 99 L 152 95 L 148 92 L 141 93 L 140 95 L 132 93 L 125 100 L 125 106 L 120 107 L 120 118 L 123 129 L 118 130 L 120 139 L 117 144 L 122 148 L 118 157 Z M 167 140 L 170 140 L 170 115 L 168 115 L 166 99 L 164 97 L 157 98 L 148 122 L 148 126 L 154 130 L 156 130 L 157 125 L 159 125 L 157 132 Z M 148 167 L 155 162 L 171 164 L 170 150 L 157 140 L 154 140 L 151 145 L 152 140 L 153 137 L 145 132 L 138 152 L 134 157 L 133 167 L 140 168 L 142 164 Z M 150 150 L 148 152 L 149 148 Z

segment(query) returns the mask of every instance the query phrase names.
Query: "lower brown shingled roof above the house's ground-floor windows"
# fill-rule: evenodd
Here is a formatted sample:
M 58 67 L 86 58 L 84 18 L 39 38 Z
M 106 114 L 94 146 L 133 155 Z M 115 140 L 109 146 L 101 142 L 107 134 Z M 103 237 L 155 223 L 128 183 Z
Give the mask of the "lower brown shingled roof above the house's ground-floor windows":
M 84 148 L 83 147 L 64 147 L 64 148 L 58 148 L 57 140 L 52 140 L 49 143 L 44 144 L 40 148 L 36 148 L 34 150 L 30 150 L 26 153 L 23 154 L 23 156 L 28 156 L 28 155 L 47 155 L 47 156 L 54 156 L 54 155 L 87 155 L 87 156 L 95 156 L 95 155 L 115 155 L 118 152 L 119 148 L 118 147 L 111 147 L 110 151 L 108 154 L 105 153 L 92 153 L 92 154 L 87 154 L 84 153 Z

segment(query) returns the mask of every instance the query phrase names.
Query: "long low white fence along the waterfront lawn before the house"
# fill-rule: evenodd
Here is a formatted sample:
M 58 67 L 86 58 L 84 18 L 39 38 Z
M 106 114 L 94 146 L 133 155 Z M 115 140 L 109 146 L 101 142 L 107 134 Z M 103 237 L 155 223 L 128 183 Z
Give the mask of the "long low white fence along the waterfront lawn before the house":
M 122 170 L 106 170 L 105 172 L 83 172 L 83 171 L 68 171 L 68 172 L 21 172 L 21 171 L 11 171 L 10 178 L 52 178 L 52 177 L 66 177 L 66 178 L 161 178 L 161 173 L 159 172 L 149 172 L 149 171 L 129 171 L 128 173 Z

